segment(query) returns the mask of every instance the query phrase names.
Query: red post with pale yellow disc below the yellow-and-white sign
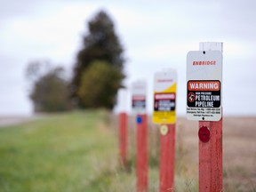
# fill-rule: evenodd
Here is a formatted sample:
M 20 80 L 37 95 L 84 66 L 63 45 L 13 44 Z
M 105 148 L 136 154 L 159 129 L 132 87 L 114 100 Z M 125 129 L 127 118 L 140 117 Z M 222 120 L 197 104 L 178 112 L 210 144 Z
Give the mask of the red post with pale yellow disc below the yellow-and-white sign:
M 160 192 L 174 191 L 175 124 L 167 128 L 165 135 L 161 130 L 160 138 Z

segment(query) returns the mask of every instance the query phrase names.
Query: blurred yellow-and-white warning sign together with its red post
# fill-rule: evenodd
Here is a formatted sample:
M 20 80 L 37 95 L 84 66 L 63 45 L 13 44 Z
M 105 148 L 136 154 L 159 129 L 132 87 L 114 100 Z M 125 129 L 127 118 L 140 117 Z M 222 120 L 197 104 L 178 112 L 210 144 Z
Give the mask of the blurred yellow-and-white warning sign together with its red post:
M 160 186 L 159 191 L 174 190 L 176 70 L 155 74 L 153 122 L 160 126 Z

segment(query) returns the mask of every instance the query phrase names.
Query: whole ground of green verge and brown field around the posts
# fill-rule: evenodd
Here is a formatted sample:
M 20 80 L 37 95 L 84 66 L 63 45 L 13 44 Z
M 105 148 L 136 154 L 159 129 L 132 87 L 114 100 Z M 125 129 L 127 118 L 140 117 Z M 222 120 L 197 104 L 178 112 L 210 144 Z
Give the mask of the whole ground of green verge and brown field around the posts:
M 136 191 L 134 122 L 126 171 L 118 164 L 117 119 L 106 111 L 45 116 L 0 129 L 0 191 Z M 255 124 L 255 117 L 224 118 L 224 191 L 256 191 Z M 179 118 L 176 130 L 175 191 L 198 191 L 197 124 Z M 149 191 L 158 191 L 159 132 L 152 124 L 148 149 Z

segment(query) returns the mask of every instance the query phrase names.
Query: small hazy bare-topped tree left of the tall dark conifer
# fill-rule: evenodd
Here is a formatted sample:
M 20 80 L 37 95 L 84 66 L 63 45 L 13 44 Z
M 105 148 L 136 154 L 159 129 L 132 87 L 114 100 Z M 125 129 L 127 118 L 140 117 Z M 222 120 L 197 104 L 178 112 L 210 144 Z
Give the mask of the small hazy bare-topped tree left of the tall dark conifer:
M 63 68 L 52 68 L 49 62 L 32 62 L 27 76 L 32 80 L 30 99 L 36 112 L 55 112 L 70 109 L 68 82 L 63 77 Z

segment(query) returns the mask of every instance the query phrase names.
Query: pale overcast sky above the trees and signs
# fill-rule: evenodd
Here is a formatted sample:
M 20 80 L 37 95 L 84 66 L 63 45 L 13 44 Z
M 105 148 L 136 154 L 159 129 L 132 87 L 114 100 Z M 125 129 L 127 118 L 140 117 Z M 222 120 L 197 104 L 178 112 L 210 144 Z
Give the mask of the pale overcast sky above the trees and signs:
M 30 114 L 25 69 L 52 60 L 70 73 L 87 22 L 100 10 L 114 20 L 124 46 L 124 84 L 148 82 L 178 71 L 178 114 L 186 112 L 186 56 L 200 42 L 223 42 L 223 108 L 226 115 L 256 115 L 256 1 L 0 1 L 0 115 Z

